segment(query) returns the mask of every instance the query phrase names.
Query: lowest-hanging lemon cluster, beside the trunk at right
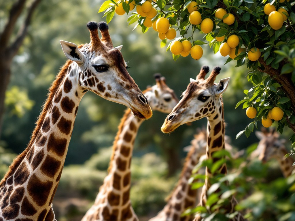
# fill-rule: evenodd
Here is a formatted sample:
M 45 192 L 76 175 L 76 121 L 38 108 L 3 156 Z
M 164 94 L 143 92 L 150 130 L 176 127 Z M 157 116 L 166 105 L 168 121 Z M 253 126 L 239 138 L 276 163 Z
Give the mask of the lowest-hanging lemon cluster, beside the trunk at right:
M 248 118 L 255 118 L 257 114 L 257 110 L 255 107 L 248 107 L 246 110 L 246 115 Z M 273 124 L 273 121 L 280 121 L 284 116 L 284 112 L 279 107 L 274 107 L 270 111 L 268 111 L 268 115 L 262 117 L 261 123 L 264 127 L 270 127 Z

